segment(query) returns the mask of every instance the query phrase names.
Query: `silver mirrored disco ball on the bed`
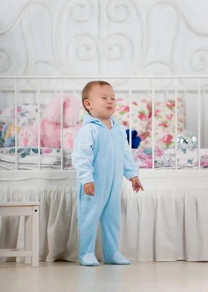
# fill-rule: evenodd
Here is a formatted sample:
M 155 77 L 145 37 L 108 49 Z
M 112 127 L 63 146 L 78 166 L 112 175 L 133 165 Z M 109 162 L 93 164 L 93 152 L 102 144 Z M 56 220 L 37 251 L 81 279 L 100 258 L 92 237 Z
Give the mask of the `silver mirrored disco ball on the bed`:
M 178 135 L 177 139 L 178 149 L 196 149 L 198 148 L 198 141 L 196 135 L 189 131 L 184 131 Z

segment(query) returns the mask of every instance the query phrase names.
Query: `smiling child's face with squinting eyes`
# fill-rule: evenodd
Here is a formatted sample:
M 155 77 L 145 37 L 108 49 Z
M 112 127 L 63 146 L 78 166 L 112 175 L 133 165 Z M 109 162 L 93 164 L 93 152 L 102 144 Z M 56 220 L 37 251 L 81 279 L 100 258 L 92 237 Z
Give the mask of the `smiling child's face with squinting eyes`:
M 92 116 L 109 119 L 116 110 L 116 100 L 110 85 L 95 85 L 88 95 L 89 110 Z

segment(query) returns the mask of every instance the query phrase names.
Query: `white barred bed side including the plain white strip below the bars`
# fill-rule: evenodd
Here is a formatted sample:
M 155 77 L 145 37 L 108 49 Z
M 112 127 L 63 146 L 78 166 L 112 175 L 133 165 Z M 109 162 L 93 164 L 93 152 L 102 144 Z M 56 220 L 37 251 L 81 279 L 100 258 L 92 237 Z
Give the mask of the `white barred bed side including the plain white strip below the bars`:
M 203 179 L 203 182 L 206 181 L 206 178 L 208 178 L 208 173 L 206 170 L 200 169 L 200 149 L 201 149 L 201 92 L 204 92 L 204 89 L 201 90 L 201 79 L 202 78 L 208 78 L 208 75 L 156 75 L 156 76 L 0 76 L 0 79 L 11 79 L 15 81 L 15 124 L 17 125 L 17 91 L 23 90 L 17 88 L 17 80 L 18 79 L 34 79 L 37 80 L 37 104 L 38 104 L 38 169 L 37 170 L 30 170 L 30 171 L 24 171 L 24 170 L 18 170 L 17 168 L 17 127 L 16 130 L 16 136 L 15 136 L 15 171 L 0 171 L 0 180 L 22 180 L 32 177 L 37 178 L 66 178 L 66 177 L 74 177 L 76 176 L 75 170 L 64 170 L 63 169 L 63 80 L 65 79 L 82 79 L 84 81 L 84 84 L 86 84 L 86 79 L 94 79 L 94 80 L 104 80 L 107 79 L 107 81 L 110 81 L 110 79 L 126 79 L 129 82 L 129 89 L 128 89 L 128 95 L 129 95 L 129 116 L 131 117 L 132 107 L 131 107 L 131 101 L 132 101 L 132 79 L 151 79 L 152 80 L 152 104 L 155 104 L 155 79 L 174 79 L 175 80 L 175 88 L 174 88 L 174 96 L 175 96 L 175 133 L 177 133 L 177 94 L 178 94 L 178 86 L 177 81 L 178 79 L 184 79 L 184 78 L 197 78 L 198 79 L 198 169 L 195 170 L 179 170 L 177 168 L 177 139 L 175 135 L 175 169 L 173 170 L 155 170 L 155 153 L 152 151 L 152 169 L 142 169 L 140 170 L 140 178 L 143 179 L 172 179 L 172 182 L 174 184 L 175 179 L 185 179 L 189 185 L 191 185 L 193 178 L 199 178 Z M 61 169 L 60 170 L 41 170 L 40 167 L 40 80 L 41 79 L 57 79 L 61 80 Z M 7 89 L 8 91 L 11 91 L 11 89 Z M 158 89 L 157 89 L 158 90 Z M 4 89 L 2 89 L 4 91 Z M 29 90 L 25 90 L 29 91 Z M 50 89 L 50 91 L 52 91 Z M 120 91 L 120 90 L 118 90 Z M 140 89 L 139 89 L 140 91 Z M 164 89 L 163 89 L 164 91 Z M 186 90 L 184 90 L 185 92 Z M 195 90 L 194 90 L 195 91 Z M 152 110 L 152 149 L 155 149 L 155 109 L 153 107 Z M 131 148 L 131 129 L 132 129 L 132 121 L 131 118 L 129 118 L 129 128 L 130 128 L 130 148 Z M 204 181 L 205 180 L 205 181 Z

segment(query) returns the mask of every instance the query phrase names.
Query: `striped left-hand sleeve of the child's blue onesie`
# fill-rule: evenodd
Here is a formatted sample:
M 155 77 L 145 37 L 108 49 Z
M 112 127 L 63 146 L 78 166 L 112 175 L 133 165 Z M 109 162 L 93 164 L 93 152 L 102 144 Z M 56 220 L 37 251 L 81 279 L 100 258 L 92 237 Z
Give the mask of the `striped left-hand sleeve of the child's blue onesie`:
M 93 146 L 96 136 L 96 129 L 90 124 L 83 126 L 77 134 L 71 159 L 77 170 L 78 178 L 82 185 L 94 183 L 93 173 Z

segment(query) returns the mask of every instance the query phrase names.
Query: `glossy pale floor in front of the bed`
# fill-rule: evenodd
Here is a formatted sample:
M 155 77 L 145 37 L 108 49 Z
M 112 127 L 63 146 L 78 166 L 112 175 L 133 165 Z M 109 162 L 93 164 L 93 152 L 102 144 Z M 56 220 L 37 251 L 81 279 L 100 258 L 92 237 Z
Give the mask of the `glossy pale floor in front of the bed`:
M 208 263 L 131 262 L 81 267 L 40 262 L 0 263 L 0 292 L 208 292 Z

